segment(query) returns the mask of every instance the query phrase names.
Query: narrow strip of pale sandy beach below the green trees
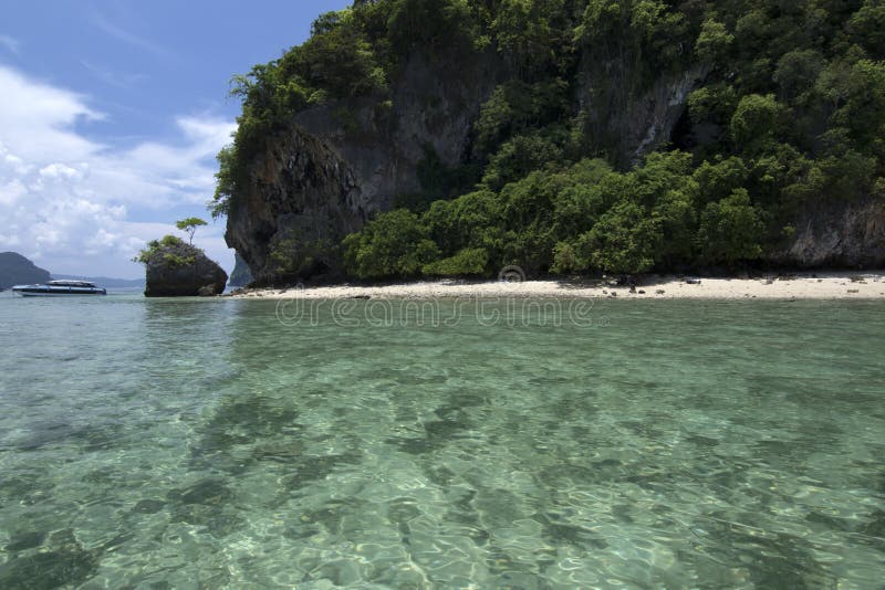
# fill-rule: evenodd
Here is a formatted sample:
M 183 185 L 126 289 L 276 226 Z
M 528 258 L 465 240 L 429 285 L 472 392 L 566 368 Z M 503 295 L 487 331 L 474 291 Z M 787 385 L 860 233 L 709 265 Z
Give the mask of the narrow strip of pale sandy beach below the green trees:
M 757 278 L 646 276 L 634 288 L 605 280 L 428 281 L 239 289 L 236 298 L 612 297 L 624 299 L 885 299 L 885 272 L 808 273 Z

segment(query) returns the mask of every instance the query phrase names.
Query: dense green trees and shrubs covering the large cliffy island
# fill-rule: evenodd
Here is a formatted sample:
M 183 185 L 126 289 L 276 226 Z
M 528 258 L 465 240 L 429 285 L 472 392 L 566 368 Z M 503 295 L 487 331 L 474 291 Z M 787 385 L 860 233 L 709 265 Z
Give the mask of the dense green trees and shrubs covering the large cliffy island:
M 733 266 L 782 247 L 802 209 L 885 199 L 882 0 L 356 0 L 236 78 L 243 110 L 216 211 L 236 206 L 252 156 L 295 113 L 388 103 L 416 52 L 487 51 L 509 74 L 464 169 L 428 155 L 426 194 L 395 196 L 405 209 L 341 244 L 350 274 Z M 702 83 L 669 145 L 625 161 L 608 110 L 689 69 Z M 577 101 L 581 76 L 595 85 Z

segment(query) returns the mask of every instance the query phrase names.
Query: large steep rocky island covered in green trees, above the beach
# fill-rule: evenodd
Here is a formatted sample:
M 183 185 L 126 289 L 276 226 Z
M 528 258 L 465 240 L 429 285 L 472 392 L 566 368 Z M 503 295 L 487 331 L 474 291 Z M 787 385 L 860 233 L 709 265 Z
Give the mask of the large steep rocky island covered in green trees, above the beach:
M 235 78 L 260 286 L 885 264 L 872 8 L 355 2 Z

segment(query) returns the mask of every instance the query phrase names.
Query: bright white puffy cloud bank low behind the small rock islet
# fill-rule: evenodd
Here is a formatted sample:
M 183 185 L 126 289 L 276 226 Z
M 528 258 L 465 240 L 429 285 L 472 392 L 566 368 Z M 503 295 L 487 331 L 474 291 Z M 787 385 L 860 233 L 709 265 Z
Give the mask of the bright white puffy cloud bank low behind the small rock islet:
M 171 207 L 209 200 L 215 155 L 235 128 L 181 117 L 174 141 L 114 149 L 77 131 L 79 123 L 103 117 L 81 95 L 3 66 L 0 95 L 0 251 L 60 274 L 137 276 L 131 259 L 138 249 L 175 233 L 156 220 L 165 221 Z M 222 232 L 211 224 L 196 243 L 230 268 Z

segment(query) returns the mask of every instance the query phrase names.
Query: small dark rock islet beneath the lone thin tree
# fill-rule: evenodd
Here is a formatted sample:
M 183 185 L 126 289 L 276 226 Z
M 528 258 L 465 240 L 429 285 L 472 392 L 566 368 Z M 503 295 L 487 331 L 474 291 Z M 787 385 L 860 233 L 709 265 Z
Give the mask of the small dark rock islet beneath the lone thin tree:
M 146 297 L 220 295 L 227 273 L 198 247 L 180 240 L 152 244 L 145 256 Z

